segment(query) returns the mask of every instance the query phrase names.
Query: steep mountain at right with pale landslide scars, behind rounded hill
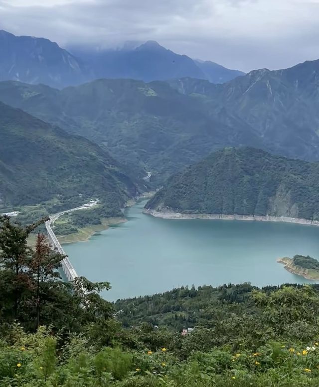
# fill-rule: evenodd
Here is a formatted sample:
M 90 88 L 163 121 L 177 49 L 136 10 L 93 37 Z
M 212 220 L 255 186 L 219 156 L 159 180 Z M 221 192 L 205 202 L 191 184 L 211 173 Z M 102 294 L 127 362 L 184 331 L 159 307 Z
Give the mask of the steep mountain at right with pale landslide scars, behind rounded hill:
M 272 143 L 272 151 L 319 158 L 319 60 L 285 70 L 255 70 L 223 85 L 194 79 L 170 85 L 186 95 L 201 95 L 220 120 L 224 114 L 244 120 Z

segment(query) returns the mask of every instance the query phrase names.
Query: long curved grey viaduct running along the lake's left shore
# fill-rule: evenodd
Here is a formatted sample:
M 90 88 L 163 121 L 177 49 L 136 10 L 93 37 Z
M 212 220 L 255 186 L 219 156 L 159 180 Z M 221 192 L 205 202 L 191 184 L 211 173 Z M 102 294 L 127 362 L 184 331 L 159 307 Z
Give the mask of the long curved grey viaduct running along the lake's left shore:
M 64 215 L 65 213 L 68 213 L 68 212 L 77 211 L 79 209 L 92 208 L 94 205 L 96 205 L 98 203 L 98 201 L 99 200 L 91 200 L 89 203 L 80 205 L 79 207 L 75 207 L 75 208 L 67 209 L 65 211 L 58 212 L 58 213 L 52 215 L 50 217 L 50 219 L 45 222 L 45 227 L 46 227 L 47 232 L 48 232 L 49 242 L 50 242 L 51 248 L 53 250 L 57 250 L 60 254 L 65 255 L 65 258 L 61 262 L 61 265 L 62 265 L 63 272 L 66 275 L 66 278 L 68 279 L 68 281 L 73 281 L 76 277 L 78 277 L 78 275 L 77 275 L 74 267 L 72 266 L 69 258 L 66 256 L 66 254 L 65 254 L 60 242 L 58 241 L 58 238 L 56 237 L 54 231 L 52 230 L 51 226 L 53 225 L 54 221 L 58 217 L 60 217 L 61 215 Z

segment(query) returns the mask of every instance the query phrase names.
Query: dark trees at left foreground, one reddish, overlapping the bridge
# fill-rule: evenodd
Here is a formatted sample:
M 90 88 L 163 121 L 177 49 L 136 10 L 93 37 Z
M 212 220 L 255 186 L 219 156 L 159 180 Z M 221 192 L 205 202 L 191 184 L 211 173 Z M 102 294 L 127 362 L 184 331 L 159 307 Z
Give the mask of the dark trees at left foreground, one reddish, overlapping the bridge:
M 0 217 L 0 326 L 17 320 L 28 331 L 51 323 L 65 332 L 107 327 L 113 307 L 99 293 L 110 289 L 109 282 L 62 282 L 57 269 L 64 256 L 50 249 L 44 235 L 38 234 L 34 250 L 27 247 L 29 233 L 44 220 L 21 226 Z M 105 335 L 103 344 L 112 339 Z

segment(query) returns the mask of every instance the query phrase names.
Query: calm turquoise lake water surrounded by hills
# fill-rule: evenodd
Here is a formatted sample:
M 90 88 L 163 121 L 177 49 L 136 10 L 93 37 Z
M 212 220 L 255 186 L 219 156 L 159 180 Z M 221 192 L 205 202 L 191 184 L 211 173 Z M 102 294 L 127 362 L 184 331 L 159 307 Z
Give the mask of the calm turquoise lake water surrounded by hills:
M 126 223 L 63 246 L 78 275 L 111 282 L 103 294 L 110 301 L 192 284 L 313 282 L 289 273 L 277 258 L 318 259 L 318 226 L 160 219 L 143 214 L 144 205 L 127 209 Z

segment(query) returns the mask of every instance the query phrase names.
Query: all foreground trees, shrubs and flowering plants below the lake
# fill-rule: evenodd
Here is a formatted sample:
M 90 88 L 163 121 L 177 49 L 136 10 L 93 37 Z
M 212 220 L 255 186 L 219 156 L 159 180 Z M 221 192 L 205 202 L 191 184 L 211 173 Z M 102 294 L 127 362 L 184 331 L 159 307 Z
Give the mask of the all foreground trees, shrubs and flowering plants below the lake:
M 319 287 L 250 284 L 102 299 L 111 285 L 65 283 L 63 256 L 0 217 L 0 386 L 319 385 Z M 194 328 L 181 334 L 183 328 Z

